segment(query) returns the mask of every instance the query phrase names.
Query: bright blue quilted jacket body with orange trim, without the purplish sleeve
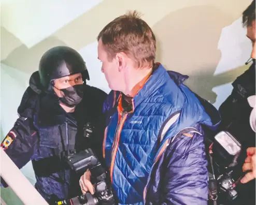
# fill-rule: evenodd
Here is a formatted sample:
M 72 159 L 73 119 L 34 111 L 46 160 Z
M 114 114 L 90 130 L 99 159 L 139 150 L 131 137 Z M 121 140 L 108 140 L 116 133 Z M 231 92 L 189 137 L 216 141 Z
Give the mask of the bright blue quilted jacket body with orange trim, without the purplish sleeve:
M 130 113 L 120 107 L 119 92 L 111 91 L 105 101 L 103 153 L 119 204 L 144 203 L 151 168 L 167 140 L 201 121 L 211 125 L 208 114 L 183 80 L 170 78 L 160 65 L 133 98 Z M 165 123 L 177 113 L 179 119 L 164 130 L 163 136 Z

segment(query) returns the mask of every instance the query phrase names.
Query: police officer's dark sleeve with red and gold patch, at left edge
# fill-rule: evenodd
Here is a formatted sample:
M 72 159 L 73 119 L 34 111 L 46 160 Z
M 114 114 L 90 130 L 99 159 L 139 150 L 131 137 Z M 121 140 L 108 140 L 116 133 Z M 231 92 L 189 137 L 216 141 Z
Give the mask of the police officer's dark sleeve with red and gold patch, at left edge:
M 37 142 L 38 135 L 33 120 L 21 116 L 2 141 L 1 149 L 4 149 L 16 166 L 21 169 L 31 160 Z M 1 178 L 1 187 L 7 186 Z

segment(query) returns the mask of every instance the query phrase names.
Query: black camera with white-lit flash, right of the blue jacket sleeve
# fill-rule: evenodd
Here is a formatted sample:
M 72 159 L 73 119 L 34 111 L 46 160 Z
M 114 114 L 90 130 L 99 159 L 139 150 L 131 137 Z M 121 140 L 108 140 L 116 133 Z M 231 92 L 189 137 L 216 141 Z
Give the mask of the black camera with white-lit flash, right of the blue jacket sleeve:
M 242 165 L 246 157 L 242 153 L 240 142 L 227 131 L 218 133 L 209 147 L 212 174 L 209 185 L 216 186 L 215 194 L 221 203 L 238 196 L 236 186 L 244 176 Z M 215 184 L 211 184 L 213 181 Z

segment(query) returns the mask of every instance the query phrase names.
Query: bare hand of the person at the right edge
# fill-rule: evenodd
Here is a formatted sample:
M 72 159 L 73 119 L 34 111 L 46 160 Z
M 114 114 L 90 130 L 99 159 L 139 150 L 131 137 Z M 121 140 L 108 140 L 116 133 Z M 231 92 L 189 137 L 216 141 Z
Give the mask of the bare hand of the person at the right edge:
M 248 157 L 245 159 L 245 164 L 243 165 L 243 171 L 250 171 L 245 174 L 245 177 L 241 179 L 241 183 L 247 183 L 256 177 L 255 171 L 255 149 L 256 148 L 248 148 L 247 155 Z

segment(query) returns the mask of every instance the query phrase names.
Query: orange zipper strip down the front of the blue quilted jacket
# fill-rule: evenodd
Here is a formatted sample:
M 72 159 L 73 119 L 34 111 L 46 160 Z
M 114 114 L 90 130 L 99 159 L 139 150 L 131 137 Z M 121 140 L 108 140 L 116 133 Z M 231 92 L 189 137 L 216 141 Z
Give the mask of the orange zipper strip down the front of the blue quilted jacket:
M 114 164 L 115 164 L 115 159 L 116 159 L 116 154 L 117 154 L 117 150 L 118 150 L 118 145 L 119 145 L 119 140 L 120 140 L 120 134 L 123 128 L 123 124 L 124 121 L 127 117 L 128 113 L 126 112 L 122 112 L 121 113 L 121 118 L 118 122 L 118 126 L 116 129 L 116 134 L 115 134 L 115 140 L 113 142 L 112 145 L 112 150 L 111 150 L 111 163 L 110 163 L 110 179 L 111 179 L 111 183 L 113 182 L 113 168 L 114 168 Z

